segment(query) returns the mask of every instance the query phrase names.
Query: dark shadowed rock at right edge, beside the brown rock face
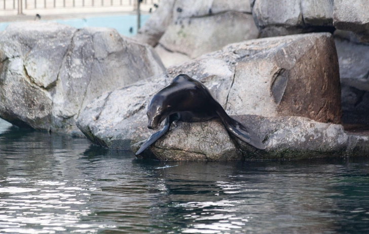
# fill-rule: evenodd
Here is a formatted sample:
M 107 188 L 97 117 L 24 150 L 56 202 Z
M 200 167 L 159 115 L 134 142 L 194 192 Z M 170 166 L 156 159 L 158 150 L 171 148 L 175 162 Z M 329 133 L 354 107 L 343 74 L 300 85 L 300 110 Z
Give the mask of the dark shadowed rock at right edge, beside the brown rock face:
M 369 125 L 369 44 L 354 33 L 336 30 L 335 43 L 342 87 L 342 121 Z

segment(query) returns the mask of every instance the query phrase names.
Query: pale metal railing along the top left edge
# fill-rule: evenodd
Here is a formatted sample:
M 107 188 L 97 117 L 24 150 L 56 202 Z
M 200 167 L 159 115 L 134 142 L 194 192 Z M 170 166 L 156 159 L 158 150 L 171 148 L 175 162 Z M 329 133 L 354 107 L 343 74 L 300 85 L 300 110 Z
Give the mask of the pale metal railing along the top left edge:
M 124 7 L 136 6 L 138 0 L 0 0 L 0 13 L 2 11 L 15 11 L 22 14 L 23 10 L 36 9 L 72 9 L 97 7 Z M 160 0 L 141 0 L 140 4 L 154 5 Z M 3 6 L 3 7 L 1 7 Z

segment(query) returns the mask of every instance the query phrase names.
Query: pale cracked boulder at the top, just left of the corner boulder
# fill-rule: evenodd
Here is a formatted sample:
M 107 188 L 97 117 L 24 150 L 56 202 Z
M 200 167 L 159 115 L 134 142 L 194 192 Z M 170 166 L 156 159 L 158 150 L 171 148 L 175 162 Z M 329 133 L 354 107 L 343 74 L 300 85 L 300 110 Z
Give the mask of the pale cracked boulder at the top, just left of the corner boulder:
M 333 31 L 333 0 L 251 0 L 262 37 Z

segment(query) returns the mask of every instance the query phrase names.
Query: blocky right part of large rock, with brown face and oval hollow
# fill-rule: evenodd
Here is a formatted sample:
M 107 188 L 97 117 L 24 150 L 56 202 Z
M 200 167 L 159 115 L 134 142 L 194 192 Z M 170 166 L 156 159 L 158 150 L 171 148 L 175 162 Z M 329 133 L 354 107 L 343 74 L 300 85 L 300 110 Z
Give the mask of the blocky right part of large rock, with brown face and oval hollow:
M 227 99 L 229 114 L 305 116 L 340 123 L 339 67 L 329 33 L 252 42 L 230 47 L 243 59 Z

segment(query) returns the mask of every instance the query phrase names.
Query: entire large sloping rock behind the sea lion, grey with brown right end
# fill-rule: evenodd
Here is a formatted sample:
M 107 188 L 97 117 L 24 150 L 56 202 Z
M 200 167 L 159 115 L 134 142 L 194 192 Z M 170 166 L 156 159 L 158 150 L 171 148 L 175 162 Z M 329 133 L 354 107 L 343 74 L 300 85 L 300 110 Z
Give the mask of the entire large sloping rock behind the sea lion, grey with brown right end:
M 203 82 L 229 114 L 296 115 L 340 122 L 340 79 L 333 37 L 312 33 L 233 44 L 173 66 L 167 74 L 95 99 L 80 114 L 78 127 L 96 144 L 130 149 L 131 143 L 154 133 L 146 128 L 147 105 L 180 73 Z

